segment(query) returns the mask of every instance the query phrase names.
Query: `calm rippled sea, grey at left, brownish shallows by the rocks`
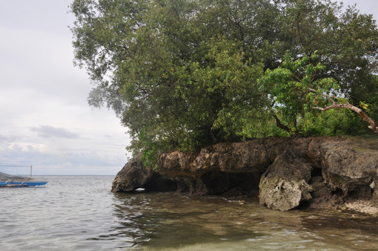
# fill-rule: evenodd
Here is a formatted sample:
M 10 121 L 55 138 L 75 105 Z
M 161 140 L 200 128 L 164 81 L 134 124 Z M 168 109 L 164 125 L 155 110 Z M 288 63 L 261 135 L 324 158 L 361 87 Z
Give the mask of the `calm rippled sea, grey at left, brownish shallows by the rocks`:
M 378 250 L 378 218 L 271 211 L 175 192 L 112 194 L 112 176 L 50 176 L 0 188 L 0 249 Z

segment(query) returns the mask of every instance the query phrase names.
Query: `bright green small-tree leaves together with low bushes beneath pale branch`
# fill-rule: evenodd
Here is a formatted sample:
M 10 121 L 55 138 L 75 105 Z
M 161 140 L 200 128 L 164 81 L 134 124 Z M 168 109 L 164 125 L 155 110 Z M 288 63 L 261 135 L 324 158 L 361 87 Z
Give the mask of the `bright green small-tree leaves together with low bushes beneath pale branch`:
M 301 135 L 358 135 L 365 132 L 362 119 L 350 110 L 335 111 L 333 105 L 349 103 L 338 82 L 322 74 L 326 68 L 316 54 L 294 60 L 285 55 L 282 67 L 266 70 L 259 79 L 269 93 L 276 116 L 287 130 Z M 360 101 L 361 109 L 368 103 Z M 341 108 L 336 106 L 335 108 Z M 325 110 L 326 112 L 319 112 Z M 365 126 L 364 126 L 365 127 Z

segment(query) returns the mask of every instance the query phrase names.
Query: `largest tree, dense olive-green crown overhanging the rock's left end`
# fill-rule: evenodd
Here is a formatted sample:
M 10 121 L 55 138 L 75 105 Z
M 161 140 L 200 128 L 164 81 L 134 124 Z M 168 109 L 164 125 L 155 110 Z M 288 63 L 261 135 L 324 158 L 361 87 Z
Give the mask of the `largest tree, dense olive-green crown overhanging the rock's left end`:
M 242 137 L 227 126 L 230 105 L 260 109 L 264 98 L 254 85 L 262 65 L 245 56 L 245 44 L 235 39 L 240 30 L 227 31 L 234 25 L 229 13 L 216 15 L 225 4 L 73 2 L 75 59 L 97 85 L 89 102 L 106 102 L 122 116 L 136 151 L 147 142 L 197 149 Z

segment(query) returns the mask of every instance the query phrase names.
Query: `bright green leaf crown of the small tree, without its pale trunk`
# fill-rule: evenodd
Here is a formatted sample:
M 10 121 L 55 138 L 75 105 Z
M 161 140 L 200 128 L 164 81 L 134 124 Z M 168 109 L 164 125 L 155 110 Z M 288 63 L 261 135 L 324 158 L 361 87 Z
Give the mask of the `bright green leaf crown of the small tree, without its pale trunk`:
M 293 60 L 287 52 L 282 66 L 266 70 L 259 79 L 261 88 L 269 93 L 277 116 L 292 132 L 303 132 L 305 123 L 299 127 L 298 120 L 306 120 L 312 107 L 327 102 L 322 93 L 335 96 L 340 91 L 335 79 L 322 77 L 324 70 L 317 54 Z

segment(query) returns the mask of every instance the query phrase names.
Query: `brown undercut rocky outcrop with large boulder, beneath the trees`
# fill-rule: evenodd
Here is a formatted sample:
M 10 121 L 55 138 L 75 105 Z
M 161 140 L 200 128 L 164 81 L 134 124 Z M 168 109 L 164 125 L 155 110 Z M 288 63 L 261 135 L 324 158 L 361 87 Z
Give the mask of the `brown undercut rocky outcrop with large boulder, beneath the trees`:
M 368 205 L 374 211 L 378 208 L 376 141 L 309 137 L 221 143 L 196 154 L 164 153 L 156 171 L 144 168 L 136 157 L 117 174 L 112 191 L 145 188 L 259 196 L 260 204 L 280 211 L 304 201 L 321 208 L 357 210 L 356 205 Z

